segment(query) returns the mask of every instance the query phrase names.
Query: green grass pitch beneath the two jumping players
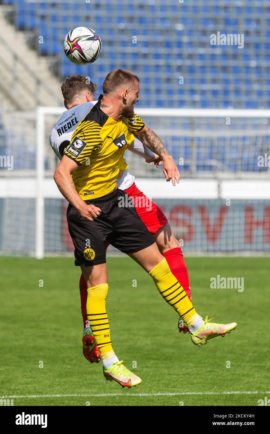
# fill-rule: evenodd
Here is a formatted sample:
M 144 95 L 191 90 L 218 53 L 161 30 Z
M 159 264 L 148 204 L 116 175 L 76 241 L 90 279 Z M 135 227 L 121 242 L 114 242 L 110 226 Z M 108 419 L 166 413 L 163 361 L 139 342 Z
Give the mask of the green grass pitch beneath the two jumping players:
M 216 322 L 236 321 L 237 329 L 198 348 L 179 334 L 178 316 L 150 276 L 128 257 L 108 258 L 114 351 L 143 380 L 123 389 L 105 381 L 101 363 L 82 355 L 80 269 L 73 259 L 0 258 L 0 397 L 19 406 L 258 405 L 270 384 L 269 258 L 188 257 L 186 263 L 197 311 Z M 244 277 L 244 291 L 210 289 L 218 274 Z

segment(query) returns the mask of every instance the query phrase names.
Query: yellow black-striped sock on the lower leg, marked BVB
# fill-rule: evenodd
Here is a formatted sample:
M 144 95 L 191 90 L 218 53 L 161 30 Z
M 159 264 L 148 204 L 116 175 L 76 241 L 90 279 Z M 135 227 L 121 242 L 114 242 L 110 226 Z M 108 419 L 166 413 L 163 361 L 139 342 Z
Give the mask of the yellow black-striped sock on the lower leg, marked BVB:
M 101 283 L 87 289 L 87 318 L 101 356 L 105 353 L 109 353 L 110 356 L 114 355 L 113 347 L 111 346 L 109 320 L 106 312 L 107 293 L 107 283 Z

